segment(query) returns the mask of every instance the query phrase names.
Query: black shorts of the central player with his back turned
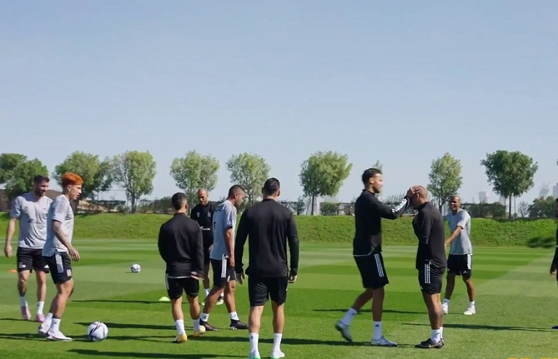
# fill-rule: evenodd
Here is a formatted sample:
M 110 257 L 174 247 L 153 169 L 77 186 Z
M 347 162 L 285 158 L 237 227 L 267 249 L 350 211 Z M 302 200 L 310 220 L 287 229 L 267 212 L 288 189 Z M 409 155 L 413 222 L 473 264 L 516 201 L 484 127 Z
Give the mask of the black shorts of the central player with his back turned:
M 282 305 L 287 301 L 289 277 L 254 277 L 248 275 L 248 298 L 250 307 L 264 305 L 271 298 Z

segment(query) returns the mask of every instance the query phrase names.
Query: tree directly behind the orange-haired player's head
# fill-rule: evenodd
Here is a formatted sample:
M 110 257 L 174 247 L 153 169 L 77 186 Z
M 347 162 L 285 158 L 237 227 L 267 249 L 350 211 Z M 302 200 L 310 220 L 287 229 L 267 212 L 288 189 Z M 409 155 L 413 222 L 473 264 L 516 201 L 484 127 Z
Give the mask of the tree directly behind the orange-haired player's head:
M 79 174 L 83 178 L 83 198 L 94 200 L 100 192 L 105 192 L 112 185 L 110 158 L 101 161 L 93 153 L 75 151 L 57 165 L 52 176 L 59 185 L 62 185 L 61 178 L 66 172 Z

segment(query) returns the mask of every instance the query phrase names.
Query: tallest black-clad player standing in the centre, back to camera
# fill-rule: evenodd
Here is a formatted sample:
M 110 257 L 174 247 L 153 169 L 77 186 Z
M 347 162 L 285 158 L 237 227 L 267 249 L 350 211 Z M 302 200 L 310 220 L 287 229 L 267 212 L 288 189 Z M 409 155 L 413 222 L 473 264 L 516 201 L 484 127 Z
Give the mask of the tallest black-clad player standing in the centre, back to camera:
M 262 189 L 264 199 L 248 208 L 241 216 L 236 231 L 234 261 L 236 278 L 242 283 L 243 253 L 248 239 L 249 262 L 248 297 L 250 300 L 250 358 L 260 358 L 258 349 L 259 323 L 264 305 L 271 298 L 273 310 L 273 348 L 270 358 L 282 358 L 280 349 L 285 325 L 284 304 L 287 301 L 287 284 L 294 283 L 299 269 L 299 236 L 294 215 L 289 208 L 278 204 L 280 184 L 269 178 Z M 290 263 L 287 260 L 289 244 Z M 290 270 L 289 270 L 290 264 Z

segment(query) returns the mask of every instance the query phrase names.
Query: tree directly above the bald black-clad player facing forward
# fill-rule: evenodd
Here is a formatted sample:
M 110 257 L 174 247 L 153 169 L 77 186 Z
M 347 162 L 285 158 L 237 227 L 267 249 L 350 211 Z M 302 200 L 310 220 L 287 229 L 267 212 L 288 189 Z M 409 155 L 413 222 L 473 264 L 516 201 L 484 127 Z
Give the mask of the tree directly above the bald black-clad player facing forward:
M 170 175 L 176 187 L 186 192 L 188 208 L 193 208 L 196 192 L 205 188 L 211 192 L 217 185 L 219 161 L 211 155 L 201 155 L 196 151 L 186 153 L 183 158 L 174 158 L 170 165 Z

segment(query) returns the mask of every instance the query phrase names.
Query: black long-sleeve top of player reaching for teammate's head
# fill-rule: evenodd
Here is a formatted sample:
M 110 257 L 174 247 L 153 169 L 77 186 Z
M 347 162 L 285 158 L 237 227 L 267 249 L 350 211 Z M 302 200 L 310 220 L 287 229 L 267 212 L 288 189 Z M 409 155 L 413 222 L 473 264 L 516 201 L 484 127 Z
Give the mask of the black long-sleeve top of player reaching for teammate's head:
M 353 255 L 382 252 L 382 218 L 395 220 L 409 206 L 407 197 L 395 208 L 383 204 L 376 194 L 363 190 L 354 203 Z

